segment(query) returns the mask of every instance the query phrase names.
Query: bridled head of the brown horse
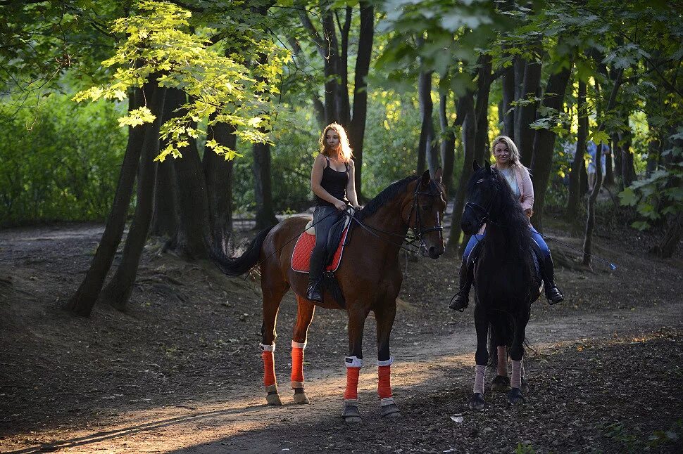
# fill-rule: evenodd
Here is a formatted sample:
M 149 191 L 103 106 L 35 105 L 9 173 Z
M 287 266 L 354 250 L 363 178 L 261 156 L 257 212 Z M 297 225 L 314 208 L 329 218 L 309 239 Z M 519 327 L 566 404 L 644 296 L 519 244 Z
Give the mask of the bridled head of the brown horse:
M 446 188 L 441 183 L 441 168 L 430 178 L 425 171 L 415 181 L 415 188 L 403 203 L 403 219 L 408 219 L 415 235 L 420 240 L 422 255 L 438 259 L 444 253 L 444 228 L 441 219 L 446 211 Z

